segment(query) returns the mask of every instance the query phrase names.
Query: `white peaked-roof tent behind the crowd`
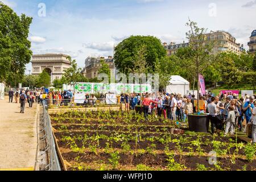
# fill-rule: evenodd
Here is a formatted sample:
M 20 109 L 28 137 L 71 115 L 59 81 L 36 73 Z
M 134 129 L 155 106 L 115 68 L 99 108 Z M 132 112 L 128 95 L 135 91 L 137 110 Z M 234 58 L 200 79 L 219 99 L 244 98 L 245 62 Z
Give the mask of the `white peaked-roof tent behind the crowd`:
M 174 75 L 171 77 L 170 83 L 171 85 L 166 87 L 166 93 L 182 94 L 183 96 L 187 94 L 187 91 L 189 90 L 189 82 L 183 77 Z

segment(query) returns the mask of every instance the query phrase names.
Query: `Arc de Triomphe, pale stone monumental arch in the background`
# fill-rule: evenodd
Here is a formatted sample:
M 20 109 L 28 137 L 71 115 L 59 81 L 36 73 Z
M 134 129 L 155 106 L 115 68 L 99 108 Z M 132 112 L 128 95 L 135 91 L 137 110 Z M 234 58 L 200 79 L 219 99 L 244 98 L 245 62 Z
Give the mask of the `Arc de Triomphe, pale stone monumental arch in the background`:
M 32 75 L 39 75 L 46 71 L 51 76 L 51 84 L 53 80 L 60 79 L 65 69 L 71 68 L 71 62 L 68 55 L 49 53 L 44 55 L 32 56 Z

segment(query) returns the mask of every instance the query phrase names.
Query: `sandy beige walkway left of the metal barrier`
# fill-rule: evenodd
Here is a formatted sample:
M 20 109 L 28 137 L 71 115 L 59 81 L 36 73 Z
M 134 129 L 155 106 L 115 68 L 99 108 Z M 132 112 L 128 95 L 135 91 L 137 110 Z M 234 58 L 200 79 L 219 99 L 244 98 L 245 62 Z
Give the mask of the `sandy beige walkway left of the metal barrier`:
M 0 100 L 0 169 L 34 169 L 37 149 L 36 118 L 39 106 L 20 114 L 20 105 Z

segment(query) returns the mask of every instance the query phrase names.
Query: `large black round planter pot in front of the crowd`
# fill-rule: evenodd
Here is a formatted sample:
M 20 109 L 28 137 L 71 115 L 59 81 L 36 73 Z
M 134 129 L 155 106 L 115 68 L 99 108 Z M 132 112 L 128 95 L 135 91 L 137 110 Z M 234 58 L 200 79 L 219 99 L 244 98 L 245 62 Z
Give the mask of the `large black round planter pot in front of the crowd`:
M 188 126 L 190 131 L 208 133 L 209 123 L 209 115 L 188 115 Z

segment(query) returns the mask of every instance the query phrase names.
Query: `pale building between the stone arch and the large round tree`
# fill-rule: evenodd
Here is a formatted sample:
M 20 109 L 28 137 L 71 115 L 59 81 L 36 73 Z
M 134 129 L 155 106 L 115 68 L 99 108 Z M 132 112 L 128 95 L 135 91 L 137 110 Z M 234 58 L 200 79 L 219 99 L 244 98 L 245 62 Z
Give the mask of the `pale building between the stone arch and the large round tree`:
M 96 57 L 89 56 L 85 59 L 85 68 L 82 70 L 82 73 L 87 78 L 97 78 L 98 71 L 101 68 L 101 60 L 104 59 L 105 63 L 109 65 L 110 72 L 115 72 L 114 59 L 112 56 L 109 56 L 107 59 L 105 57 Z

